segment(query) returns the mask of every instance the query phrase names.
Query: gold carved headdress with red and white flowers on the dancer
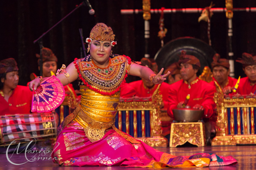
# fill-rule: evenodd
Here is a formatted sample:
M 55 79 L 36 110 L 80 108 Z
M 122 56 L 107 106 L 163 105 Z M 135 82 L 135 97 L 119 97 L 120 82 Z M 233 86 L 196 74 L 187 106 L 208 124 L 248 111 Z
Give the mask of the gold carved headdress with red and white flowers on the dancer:
M 111 45 L 114 47 L 117 43 L 114 41 L 115 35 L 111 27 L 108 27 L 105 23 L 97 23 L 90 32 L 90 38 L 86 38 L 86 43 L 92 43 L 92 40 L 97 41 L 111 41 Z M 90 47 L 87 48 L 87 53 Z

